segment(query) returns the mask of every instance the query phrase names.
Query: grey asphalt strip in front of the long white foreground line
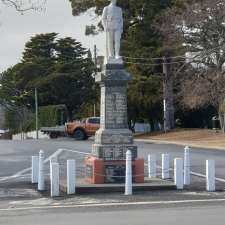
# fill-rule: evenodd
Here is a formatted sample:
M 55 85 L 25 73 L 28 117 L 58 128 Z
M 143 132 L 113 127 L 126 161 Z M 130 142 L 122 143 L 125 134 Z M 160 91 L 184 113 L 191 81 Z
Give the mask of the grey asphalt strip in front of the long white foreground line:
M 117 207 L 0 212 L 4 225 L 224 225 L 225 205 Z

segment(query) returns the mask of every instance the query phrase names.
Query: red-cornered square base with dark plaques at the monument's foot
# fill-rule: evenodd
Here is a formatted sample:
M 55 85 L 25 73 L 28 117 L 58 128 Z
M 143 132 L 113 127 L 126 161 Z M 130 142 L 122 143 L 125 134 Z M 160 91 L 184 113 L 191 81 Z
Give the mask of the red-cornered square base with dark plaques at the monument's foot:
M 85 159 L 86 181 L 91 184 L 125 183 L 125 160 L 104 161 L 95 156 Z M 144 183 L 144 159 L 132 161 L 133 183 Z

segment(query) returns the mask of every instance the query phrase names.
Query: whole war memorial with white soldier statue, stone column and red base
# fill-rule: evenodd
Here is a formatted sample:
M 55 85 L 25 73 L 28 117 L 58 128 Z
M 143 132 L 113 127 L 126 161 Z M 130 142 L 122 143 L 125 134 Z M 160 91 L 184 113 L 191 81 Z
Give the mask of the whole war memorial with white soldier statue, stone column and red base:
M 123 13 L 116 3 L 111 0 L 102 15 L 106 54 L 103 70 L 95 77 L 101 88 L 100 129 L 95 135 L 92 156 L 85 160 L 86 180 L 93 184 L 123 183 L 128 150 L 132 153 L 133 182 L 144 182 L 144 160 L 138 158 L 137 146 L 128 128 L 127 84 L 131 75 L 120 56 Z

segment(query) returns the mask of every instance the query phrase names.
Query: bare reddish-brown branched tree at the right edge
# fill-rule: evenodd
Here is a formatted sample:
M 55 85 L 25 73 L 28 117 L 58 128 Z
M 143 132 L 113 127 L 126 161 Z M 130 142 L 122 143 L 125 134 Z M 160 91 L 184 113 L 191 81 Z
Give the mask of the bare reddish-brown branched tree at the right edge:
M 183 1 L 166 14 L 163 29 L 189 52 L 182 70 L 179 97 L 191 109 L 214 106 L 225 98 L 225 1 Z

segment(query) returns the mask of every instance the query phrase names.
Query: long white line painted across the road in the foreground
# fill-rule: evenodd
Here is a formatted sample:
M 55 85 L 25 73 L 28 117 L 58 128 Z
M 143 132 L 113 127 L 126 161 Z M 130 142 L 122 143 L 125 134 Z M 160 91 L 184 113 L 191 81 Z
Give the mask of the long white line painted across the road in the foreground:
M 44 209 L 63 209 L 63 208 L 94 208 L 94 207 L 116 207 L 116 206 L 153 206 L 153 205 L 172 205 L 187 203 L 219 203 L 225 199 L 199 199 L 199 200 L 177 200 L 177 201 L 155 201 L 155 202 L 118 202 L 118 203 L 93 203 L 93 204 L 65 204 L 49 206 L 31 206 L 18 208 L 2 208 L 1 211 L 25 211 L 25 210 L 44 210 Z

